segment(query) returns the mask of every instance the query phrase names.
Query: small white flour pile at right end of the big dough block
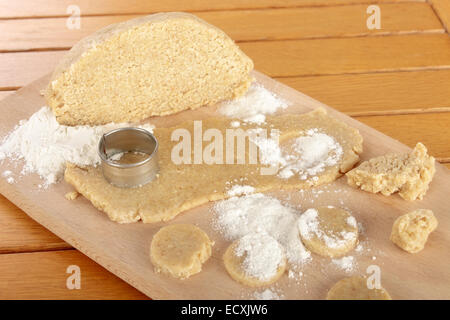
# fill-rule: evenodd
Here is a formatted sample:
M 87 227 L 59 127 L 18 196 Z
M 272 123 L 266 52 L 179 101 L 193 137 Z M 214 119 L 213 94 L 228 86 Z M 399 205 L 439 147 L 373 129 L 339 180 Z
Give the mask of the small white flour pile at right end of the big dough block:
M 254 83 L 244 96 L 222 103 L 218 111 L 229 118 L 261 124 L 266 121 L 266 114 L 273 114 L 278 109 L 287 107 L 286 101 L 260 84 Z

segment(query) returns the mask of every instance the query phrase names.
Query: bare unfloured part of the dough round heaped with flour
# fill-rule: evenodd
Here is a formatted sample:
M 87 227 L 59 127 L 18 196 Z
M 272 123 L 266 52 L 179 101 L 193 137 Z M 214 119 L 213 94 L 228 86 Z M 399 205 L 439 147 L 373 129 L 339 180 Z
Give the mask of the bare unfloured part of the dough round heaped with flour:
M 252 235 L 247 235 L 244 237 L 251 237 Z M 241 252 L 238 254 L 238 247 L 240 245 L 240 242 L 243 238 L 238 239 L 234 241 L 225 251 L 225 254 L 223 255 L 223 262 L 225 265 L 225 269 L 227 270 L 228 274 L 233 278 L 233 280 L 244 284 L 246 286 L 250 287 L 261 287 L 261 286 L 267 286 L 272 283 L 275 283 L 284 273 L 286 270 L 286 255 L 284 253 L 283 247 L 272 237 L 266 235 L 266 237 L 271 238 L 271 240 L 276 243 L 280 250 L 280 254 L 282 254 L 282 259 L 280 263 L 278 264 L 278 267 L 276 268 L 275 272 L 266 277 L 262 277 L 261 275 L 257 274 L 250 274 L 250 272 L 246 268 L 246 264 L 248 264 L 248 251 Z M 258 246 L 256 242 L 253 243 L 253 247 Z M 247 248 L 248 249 L 248 248 Z M 250 248 L 251 250 L 251 248 Z M 266 248 L 268 250 L 268 248 Z M 264 249 L 263 249 L 264 251 Z M 254 252 L 253 255 L 256 255 L 257 253 Z M 263 266 L 261 266 L 263 267 Z M 266 266 L 264 266 L 266 267 Z

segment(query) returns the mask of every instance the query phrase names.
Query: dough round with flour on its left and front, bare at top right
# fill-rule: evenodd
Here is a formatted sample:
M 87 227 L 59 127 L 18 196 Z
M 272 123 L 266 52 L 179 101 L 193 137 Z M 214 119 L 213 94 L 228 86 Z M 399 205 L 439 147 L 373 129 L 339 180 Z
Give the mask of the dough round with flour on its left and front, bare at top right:
M 298 228 L 305 247 L 325 257 L 342 256 L 358 242 L 356 219 L 331 206 L 306 210 L 298 220 Z

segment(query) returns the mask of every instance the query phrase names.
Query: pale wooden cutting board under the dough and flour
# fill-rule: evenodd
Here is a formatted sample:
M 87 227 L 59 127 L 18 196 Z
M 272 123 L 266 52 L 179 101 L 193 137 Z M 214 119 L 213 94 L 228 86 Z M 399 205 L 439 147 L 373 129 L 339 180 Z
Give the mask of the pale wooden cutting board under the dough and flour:
M 258 82 L 291 106 L 284 113 L 304 113 L 319 106 L 331 115 L 356 127 L 364 137 L 362 160 L 387 152 L 407 152 L 400 142 L 287 87 L 261 73 L 254 72 Z M 41 78 L 0 103 L 0 137 L 4 137 L 21 119 L 39 110 L 45 101 L 39 94 L 49 77 Z M 188 119 L 203 119 L 215 115 L 216 107 L 204 107 L 176 115 L 151 119 L 157 127 L 172 126 Z M 411 128 L 414 130 L 414 128 Z M 422 201 L 408 202 L 398 195 L 385 197 L 353 189 L 345 178 L 307 192 L 272 192 L 271 195 L 299 206 L 302 210 L 319 205 L 335 205 L 350 210 L 363 224 L 363 250 L 351 252 L 356 267 L 346 272 L 330 259 L 313 255 L 297 280 L 284 275 L 273 287 L 286 299 L 323 299 L 328 288 L 339 279 L 352 274 L 366 274 L 370 265 L 380 267 L 382 285 L 394 299 L 450 299 L 450 171 L 436 164 L 436 175 Z M 0 164 L 0 172 L 19 173 L 22 163 Z M 213 255 L 203 271 L 187 280 L 177 280 L 153 272 L 149 259 L 152 236 L 167 223 L 120 225 L 108 220 L 85 198 L 68 201 L 64 195 L 72 191 L 65 182 L 40 190 L 36 175 L 22 177 L 8 184 L 0 179 L 0 192 L 44 227 L 154 299 L 241 299 L 252 298 L 255 290 L 231 280 L 222 263 L 228 242 L 212 228 L 211 203 L 179 215 L 168 223 L 194 223 L 216 242 Z M 317 192 L 322 190 L 322 192 Z M 389 235 L 392 223 L 401 214 L 413 209 L 434 211 L 439 226 L 430 236 L 425 250 L 409 254 L 392 244 Z M 44 288 L 43 288 L 44 289 Z

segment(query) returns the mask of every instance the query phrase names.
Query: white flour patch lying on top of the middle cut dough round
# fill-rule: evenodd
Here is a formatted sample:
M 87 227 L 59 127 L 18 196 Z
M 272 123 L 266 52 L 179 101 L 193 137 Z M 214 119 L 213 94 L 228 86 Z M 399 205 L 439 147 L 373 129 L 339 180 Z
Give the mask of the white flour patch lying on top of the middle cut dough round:
M 235 249 L 246 274 L 259 280 L 270 280 L 284 260 L 284 249 L 277 240 L 266 233 L 250 233 L 238 240 Z

